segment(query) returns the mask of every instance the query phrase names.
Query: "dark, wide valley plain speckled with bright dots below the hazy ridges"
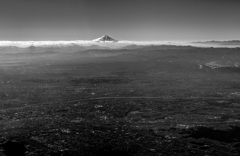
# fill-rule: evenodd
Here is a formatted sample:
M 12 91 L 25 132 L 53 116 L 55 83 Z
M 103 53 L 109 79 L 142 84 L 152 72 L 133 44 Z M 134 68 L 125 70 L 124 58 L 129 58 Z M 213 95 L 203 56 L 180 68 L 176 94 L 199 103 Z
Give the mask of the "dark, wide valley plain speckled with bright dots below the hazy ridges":
M 27 156 L 239 155 L 239 57 L 192 47 L 1 55 L 0 155 L 7 140 Z

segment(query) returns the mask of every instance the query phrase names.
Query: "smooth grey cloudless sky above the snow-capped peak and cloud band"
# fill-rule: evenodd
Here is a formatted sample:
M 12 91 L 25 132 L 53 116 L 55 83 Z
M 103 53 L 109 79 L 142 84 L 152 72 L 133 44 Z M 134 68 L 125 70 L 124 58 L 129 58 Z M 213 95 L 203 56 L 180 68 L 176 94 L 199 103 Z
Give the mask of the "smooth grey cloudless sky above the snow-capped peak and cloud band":
M 0 0 L 0 40 L 240 39 L 240 0 Z

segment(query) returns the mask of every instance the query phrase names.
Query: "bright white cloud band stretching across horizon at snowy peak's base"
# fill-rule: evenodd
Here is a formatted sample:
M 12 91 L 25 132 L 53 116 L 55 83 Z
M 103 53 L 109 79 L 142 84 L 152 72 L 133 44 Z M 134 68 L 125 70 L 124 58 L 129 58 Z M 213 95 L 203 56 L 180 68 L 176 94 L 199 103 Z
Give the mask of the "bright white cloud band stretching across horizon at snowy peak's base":
M 178 41 L 128 41 L 122 40 L 118 42 L 95 42 L 93 40 L 74 40 L 74 41 L 0 41 L 1 47 L 18 47 L 18 48 L 28 48 L 28 47 L 71 47 L 71 46 L 90 46 L 98 45 L 102 47 L 109 48 L 121 48 L 127 45 L 176 45 L 176 46 L 195 46 L 195 47 L 239 47 L 236 45 L 229 46 L 218 45 L 218 44 L 207 44 L 205 42 L 178 42 Z

